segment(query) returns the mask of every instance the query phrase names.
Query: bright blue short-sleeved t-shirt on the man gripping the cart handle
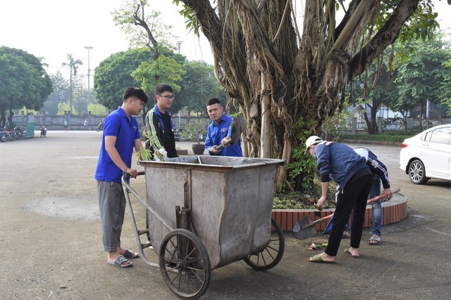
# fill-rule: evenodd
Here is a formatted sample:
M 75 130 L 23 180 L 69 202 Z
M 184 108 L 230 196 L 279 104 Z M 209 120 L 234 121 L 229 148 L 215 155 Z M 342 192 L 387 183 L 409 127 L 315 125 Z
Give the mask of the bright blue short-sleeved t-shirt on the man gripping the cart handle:
M 94 178 L 98 181 L 112 181 L 121 183 L 123 170 L 111 160 L 105 149 L 105 136 L 116 136 L 116 149 L 127 167 L 132 165 L 135 140 L 140 138 L 140 130 L 135 117 L 128 119 L 121 107 L 114 110 L 105 118 L 104 134 L 101 141 L 99 161 Z

